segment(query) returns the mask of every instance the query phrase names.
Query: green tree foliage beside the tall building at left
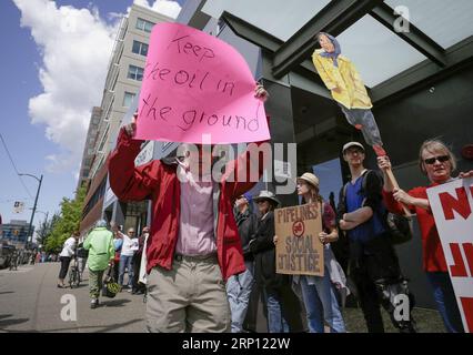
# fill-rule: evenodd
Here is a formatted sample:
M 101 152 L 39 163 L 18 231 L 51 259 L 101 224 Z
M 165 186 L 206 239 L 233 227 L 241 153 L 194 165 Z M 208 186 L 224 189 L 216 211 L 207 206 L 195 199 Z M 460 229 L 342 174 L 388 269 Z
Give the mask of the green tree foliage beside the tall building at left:
M 54 215 L 51 221 L 51 230 L 44 235 L 46 251 L 59 253 L 66 240 L 74 231 L 79 231 L 82 216 L 83 201 L 85 199 L 85 187 L 80 187 L 76 193 L 76 199 L 62 199 L 61 213 Z

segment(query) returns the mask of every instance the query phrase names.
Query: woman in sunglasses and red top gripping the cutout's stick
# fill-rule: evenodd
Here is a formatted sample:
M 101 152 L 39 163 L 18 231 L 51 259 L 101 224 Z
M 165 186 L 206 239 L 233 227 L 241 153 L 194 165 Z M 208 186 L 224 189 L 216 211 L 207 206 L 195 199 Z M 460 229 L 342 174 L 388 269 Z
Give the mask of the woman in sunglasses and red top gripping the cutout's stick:
M 388 210 L 402 214 L 401 204 L 404 204 L 412 213 L 417 214 L 422 234 L 423 268 L 432 286 L 435 303 L 446 331 L 462 333 L 462 318 L 426 193 L 429 187 L 452 180 L 452 172 L 456 169 L 453 153 L 439 140 L 425 141 L 419 151 L 419 166 L 431 183 L 429 186 L 415 187 L 409 192 L 394 189 L 390 179 L 388 179 L 385 172 L 391 169 L 389 156 L 379 156 L 378 166 L 384 173 L 383 200 Z M 470 176 L 473 176 L 473 171 L 459 175 L 459 178 Z

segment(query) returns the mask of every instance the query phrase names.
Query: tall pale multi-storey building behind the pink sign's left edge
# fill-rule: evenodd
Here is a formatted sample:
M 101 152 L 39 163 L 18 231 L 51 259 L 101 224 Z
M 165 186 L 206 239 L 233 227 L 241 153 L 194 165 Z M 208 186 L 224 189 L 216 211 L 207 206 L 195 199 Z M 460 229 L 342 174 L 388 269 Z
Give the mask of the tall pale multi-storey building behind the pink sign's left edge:
M 102 102 L 100 108 L 93 109 L 84 148 L 81 180 L 87 181 L 88 193 L 80 226 L 82 234 L 89 231 L 99 219 L 108 217 L 104 201 L 110 202 L 108 199 L 110 192 L 107 193 L 109 187 L 105 161 L 114 148 L 122 121 L 127 119 L 127 113 L 132 113 L 135 108 L 151 29 L 157 23 L 171 21 L 173 21 L 172 18 L 137 4 L 133 4 L 128 17 L 121 20 L 111 53 Z M 142 209 L 147 210 L 147 206 L 140 205 L 139 210 Z M 123 214 L 117 219 L 120 224 L 124 224 Z M 134 223 L 127 224 L 137 227 L 140 223 L 134 219 Z

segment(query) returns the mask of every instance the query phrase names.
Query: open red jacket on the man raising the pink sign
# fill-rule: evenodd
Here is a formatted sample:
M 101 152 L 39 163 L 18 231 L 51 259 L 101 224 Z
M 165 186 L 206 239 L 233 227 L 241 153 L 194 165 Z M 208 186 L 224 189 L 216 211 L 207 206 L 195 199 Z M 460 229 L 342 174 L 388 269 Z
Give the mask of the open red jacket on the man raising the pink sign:
M 142 166 L 134 166 L 134 159 L 140 152 L 143 141 L 131 139 L 121 129 L 117 148 L 109 156 L 110 186 L 122 201 L 152 200 L 152 223 L 150 237 L 147 244 L 147 272 L 159 265 L 167 270 L 172 268 L 172 261 L 178 242 L 180 222 L 180 181 L 177 176 L 177 164 L 167 164 L 163 161 L 152 161 Z M 261 178 L 263 160 L 251 161 L 246 152 L 238 160 L 228 164 L 227 171 L 236 172 L 246 159 L 246 176 L 250 175 L 250 163 L 258 163 L 258 173 Z M 260 155 L 260 153 L 259 153 Z M 244 166 L 243 166 L 244 168 Z M 235 174 L 235 176 L 238 176 Z M 234 179 L 236 180 L 236 179 Z M 245 179 L 249 181 L 249 179 Z M 214 186 L 218 194 L 218 221 L 214 223 L 217 235 L 217 252 L 223 280 L 245 270 L 243 252 L 233 216 L 233 201 L 255 185 L 255 182 L 229 182 L 225 176 Z M 215 196 L 215 194 L 214 194 Z

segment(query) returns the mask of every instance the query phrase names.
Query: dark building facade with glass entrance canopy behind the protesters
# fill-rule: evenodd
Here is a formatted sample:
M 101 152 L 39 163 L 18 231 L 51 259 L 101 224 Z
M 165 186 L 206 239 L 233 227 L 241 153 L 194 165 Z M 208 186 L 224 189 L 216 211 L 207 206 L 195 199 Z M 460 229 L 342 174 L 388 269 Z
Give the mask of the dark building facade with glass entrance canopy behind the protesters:
M 427 184 L 417 166 L 426 139 L 445 141 L 459 171 L 473 169 L 473 24 L 466 13 L 473 13 L 472 2 L 189 0 L 177 22 L 217 36 L 245 58 L 270 93 L 265 110 L 272 143 L 296 144 L 296 161 L 283 162 L 291 165 L 290 175 L 314 172 L 322 196 L 338 200 L 350 174 L 341 148 L 364 140 L 348 124 L 312 63 L 315 34 L 335 36 L 342 54 L 355 63 L 393 172 L 407 190 Z M 371 150 L 365 163 L 376 168 Z M 270 189 L 278 184 L 273 181 Z M 283 205 L 298 203 L 295 193 L 279 199 Z M 434 307 L 415 231 L 411 242 L 397 247 L 400 262 L 417 305 Z

